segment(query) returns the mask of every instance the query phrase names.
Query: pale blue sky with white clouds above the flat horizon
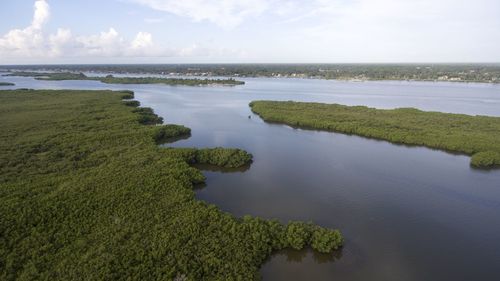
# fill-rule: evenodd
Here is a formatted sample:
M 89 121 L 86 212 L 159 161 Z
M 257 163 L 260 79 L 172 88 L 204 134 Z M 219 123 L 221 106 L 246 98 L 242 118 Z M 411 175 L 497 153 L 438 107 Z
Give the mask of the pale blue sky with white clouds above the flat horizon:
M 500 62 L 500 0 L 1 0 L 0 64 Z

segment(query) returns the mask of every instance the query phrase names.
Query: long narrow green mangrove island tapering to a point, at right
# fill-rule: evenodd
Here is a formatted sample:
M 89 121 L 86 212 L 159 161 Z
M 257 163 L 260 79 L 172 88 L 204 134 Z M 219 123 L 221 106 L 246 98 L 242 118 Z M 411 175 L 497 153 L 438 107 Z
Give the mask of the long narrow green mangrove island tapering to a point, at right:
M 499 117 L 291 101 L 254 101 L 250 107 L 268 122 L 465 153 L 475 167 L 500 165 Z

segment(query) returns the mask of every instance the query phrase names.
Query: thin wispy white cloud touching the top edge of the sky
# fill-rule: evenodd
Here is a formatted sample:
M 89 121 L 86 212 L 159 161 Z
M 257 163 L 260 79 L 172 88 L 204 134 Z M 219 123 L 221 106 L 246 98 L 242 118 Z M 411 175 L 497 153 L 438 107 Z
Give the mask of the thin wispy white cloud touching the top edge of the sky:
M 131 0 L 152 9 L 209 21 L 224 28 L 233 28 L 243 20 L 262 14 L 270 7 L 266 0 Z

